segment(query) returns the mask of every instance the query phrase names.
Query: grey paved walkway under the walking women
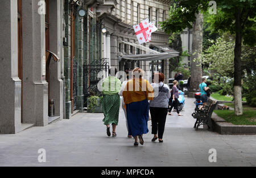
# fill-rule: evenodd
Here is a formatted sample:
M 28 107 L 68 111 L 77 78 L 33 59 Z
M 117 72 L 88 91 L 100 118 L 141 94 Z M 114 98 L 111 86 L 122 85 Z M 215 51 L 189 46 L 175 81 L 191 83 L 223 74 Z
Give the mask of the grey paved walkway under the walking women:
M 255 166 L 256 135 L 195 131 L 192 102 L 186 98 L 184 117 L 168 116 L 164 143 L 152 143 L 148 133 L 144 146 L 134 147 L 122 110 L 117 138 L 106 136 L 103 114 L 79 113 L 46 127 L 0 135 L 0 166 Z M 46 150 L 46 163 L 38 162 L 40 148 Z M 217 151 L 217 163 L 208 161 L 210 148 Z

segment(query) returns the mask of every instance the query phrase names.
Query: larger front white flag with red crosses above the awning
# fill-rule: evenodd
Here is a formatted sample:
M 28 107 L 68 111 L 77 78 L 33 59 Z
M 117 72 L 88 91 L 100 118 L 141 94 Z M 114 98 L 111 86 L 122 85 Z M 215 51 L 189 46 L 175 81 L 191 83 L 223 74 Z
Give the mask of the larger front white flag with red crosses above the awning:
M 148 40 L 148 19 L 143 20 L 140 24 L 133 26 L 139 44 L 146 43 Z

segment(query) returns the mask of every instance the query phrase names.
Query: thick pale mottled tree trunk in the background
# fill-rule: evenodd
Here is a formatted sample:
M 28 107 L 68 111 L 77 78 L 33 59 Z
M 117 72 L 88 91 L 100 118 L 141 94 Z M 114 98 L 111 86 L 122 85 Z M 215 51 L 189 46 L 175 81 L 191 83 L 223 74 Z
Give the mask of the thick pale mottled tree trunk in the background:
M 193 24 L 192 57 L 191 57 L 191 82 L 189 92 L 196 92 L 202 79 L 201 62 L 194 61 L 201 57 L 203 48 L 203 14 L 196 14 L 196 22 Z M 191 94 L 189 94 L 191 96 Z

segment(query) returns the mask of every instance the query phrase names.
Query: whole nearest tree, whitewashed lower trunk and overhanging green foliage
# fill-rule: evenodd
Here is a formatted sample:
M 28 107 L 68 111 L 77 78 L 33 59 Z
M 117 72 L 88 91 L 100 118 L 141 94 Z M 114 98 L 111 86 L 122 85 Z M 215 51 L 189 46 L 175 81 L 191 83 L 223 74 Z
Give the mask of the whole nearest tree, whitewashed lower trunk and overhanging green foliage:
M 169 18 L 162 23 L 166 32 L 182 31 L 192 27 L 199 11 L 207 11 L 209 1 L 206 0 L 175 0 Z M 234 92 L 235 114 L 242 114 L 241 100 L 241 51 L 242 39 L 245 45 L 256 44 L 256 1 L 255 0 L 216 0 L 217 14 L 209 18 L 212 31 L 230 32 L 236 35 L 234 48 Z

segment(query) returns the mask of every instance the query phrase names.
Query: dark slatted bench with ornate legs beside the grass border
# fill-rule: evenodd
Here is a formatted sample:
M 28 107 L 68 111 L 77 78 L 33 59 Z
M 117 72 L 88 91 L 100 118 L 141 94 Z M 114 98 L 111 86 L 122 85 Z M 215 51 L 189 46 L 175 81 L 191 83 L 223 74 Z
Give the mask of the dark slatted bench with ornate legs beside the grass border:
M 207 125 L 210 130 L 212 130 L 212 113 L 217 105 L 217 102 L 214 101 L 210 104 L 209 107 L 205 107 L 204 110 L 195 109 L 195 113 L 192 114 L 192 117 L 196 119 L 194 128 L 198 130 L 200 125 Z

